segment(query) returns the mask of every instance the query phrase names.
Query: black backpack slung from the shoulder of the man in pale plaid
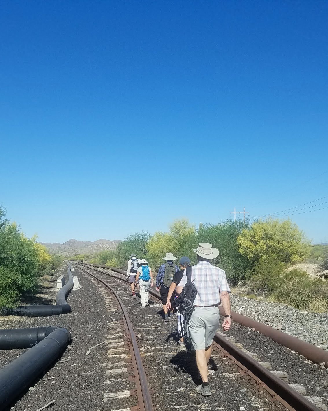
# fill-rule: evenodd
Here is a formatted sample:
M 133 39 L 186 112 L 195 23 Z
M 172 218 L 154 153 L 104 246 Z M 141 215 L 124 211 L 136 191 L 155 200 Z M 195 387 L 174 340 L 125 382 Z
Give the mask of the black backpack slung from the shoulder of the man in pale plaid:
M 197 289 L 191 281 L 191 267 L 186 268 L 186 277 L 186 285 L 183 287 L 181 294 L 174 302 L 179 312 L 183 315 L 181 330 L 183 330 L 184 337 L 186 338 L 186 344 L 188 344 L 190 342 L 187 325 L 191 314 L 193 314 L 193 311 L 195 310 L 194 301 L 197 296 Z M 180 337 L 181 335 L 179 335 L 179 338 Z

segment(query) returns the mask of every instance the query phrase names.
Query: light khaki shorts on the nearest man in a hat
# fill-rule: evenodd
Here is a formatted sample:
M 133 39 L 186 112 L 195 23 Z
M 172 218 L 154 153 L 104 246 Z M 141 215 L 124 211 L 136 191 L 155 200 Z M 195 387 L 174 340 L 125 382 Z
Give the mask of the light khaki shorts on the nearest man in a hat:
M 218 307 L 195 307 L 188 322 L 189 336 L 195 350 L 204 350 L 212 345 L 219 321 Z

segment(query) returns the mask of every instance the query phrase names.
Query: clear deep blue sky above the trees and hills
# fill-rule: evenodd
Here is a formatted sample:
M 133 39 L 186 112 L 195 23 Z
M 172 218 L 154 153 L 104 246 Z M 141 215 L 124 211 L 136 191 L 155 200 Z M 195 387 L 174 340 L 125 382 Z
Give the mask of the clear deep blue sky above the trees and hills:
M 2 0 L 7 217 L 123 239 L 328 196 L 327 21 L 325 0 Z M 328 208 L 291 218 L 328 241 Z

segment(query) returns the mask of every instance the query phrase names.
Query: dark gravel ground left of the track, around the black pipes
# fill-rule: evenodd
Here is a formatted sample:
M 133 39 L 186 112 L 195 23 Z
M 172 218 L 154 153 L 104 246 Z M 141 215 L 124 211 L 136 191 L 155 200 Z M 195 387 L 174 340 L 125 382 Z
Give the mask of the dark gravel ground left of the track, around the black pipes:
M 67 266 L 57 270 L 54 277 L 66 275 Z M 102 403 L 105 372 L 99 363 L 107 358 L 106 344 L 101 344 L 86 356 L 87 350 L 107 337 L 107 324 L 112 321 L 108 316 L 105 302 L 97 287 L 79 272 L 75 273 L 82 289 L 71 291 L 67 302 L 72 307 L 69 314 L 51 317 L 0 317 L 1 328 L 28 328 L 39 326 L 59 326 L 69 330 L 72 336 L 71 346 L 62 358 L 68 360 L 56 363 L 48 372 L 36 381 L 31 391 L 25 393 L 13 410 L 37 410 L 55 400 L 51 410 L 96 411 Z M 55 296 L 55 283 L 49 291 L 50 300 Z M 31 302 L 32 303 L 32 302 Z M 5 367 L 26 350 L 0 351 L 0 364 Z M 91 372 L 90 374 L 83 374 Z

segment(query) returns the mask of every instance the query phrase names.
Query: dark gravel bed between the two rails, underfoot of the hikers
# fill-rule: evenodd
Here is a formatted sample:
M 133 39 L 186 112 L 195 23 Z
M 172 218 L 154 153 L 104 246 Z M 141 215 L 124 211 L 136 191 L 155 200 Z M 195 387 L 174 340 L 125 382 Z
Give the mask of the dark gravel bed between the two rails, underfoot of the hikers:
M 91 270 L 86 267 L 87 270 Z M 158 410 L 220 410 L 284 409 L 280 404 L 271 404 L 264 392 L 259 392 L 253 381 L 242 376 L 235 365 L 213 351 L 210 363 L 211 397 L 202 397 L 195 392 L 201 381 L 198 378 L 195 356 L 177 347 L 177 317 L 171 316 L 168 323 L 161 316 L 162 305 L 149 296 L 149 307 L 140 306 L 140 298 L 133 300 L 128 285 L 96 272 L 119 293 L 138 338 L 149 387 L 154 391 L 153 402 Z M 115 274 L 116 275 L 116 274 Z M 118 275 L 119 276 L 119 275 Z M 123 406 L 120 409 L 124 408 Z

